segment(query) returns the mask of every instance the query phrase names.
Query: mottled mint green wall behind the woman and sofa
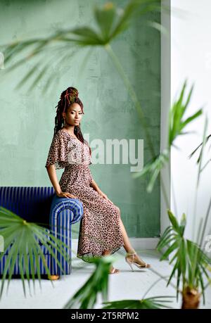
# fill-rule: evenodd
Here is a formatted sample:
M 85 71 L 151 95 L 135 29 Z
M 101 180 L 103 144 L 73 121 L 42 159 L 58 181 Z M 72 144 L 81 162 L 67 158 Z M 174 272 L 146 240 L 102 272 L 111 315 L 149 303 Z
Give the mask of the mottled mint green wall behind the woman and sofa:
M 127 1 L 114 1 L 123 6 Z M 92 6 L 106 1 L 46 0 L 1 1 L 1 44 L 20 37 L 44 37 L 57 27 L 94 25 Z M 159 13 L 148 18 L 160 21 Z M 155 152 L 160 144 L 160 34 L 136 20 L 127 32 L 113 43 L 113 50 L 131 80 L 146 115 Z M 84 52 L 72 58 L 70 65 L 52 66 L 56 84 L 41 94 L 49 72 L 30 92 L 32 81 L 20 89 L 15 85 L 32 61 L 1 76 L 0 109 L 0 178 L 1 186 L 51 186 L 46 168 L 53 137 L 55 106 L 66 87 L 79 89 L 84 103 L 82 132 L 90 140 L 144 139 L 144 162 L 151 155 L 124 84 L 103 49 L 94 49 L 82 75 L 79 66 Z M 50 55 L 50 53 L 49 53 Z M 48 58 L 44 56 L 44 60 Z M 6 66 L 5 66 L 6 68 Z M 39 68 L 39 65 L 38 65 Z M 3 81 L 2 81 L 3 80 Z M 130 165 L 91 165 L 91 173 L 101 188 L 120 207 L 124 226 L 130 237 L 153 237 L 160 234 L 160 183 L 152 194 L 146 193 L 146 179 L 132 179 Z M 58 179 L 63 170 L 57 172 Z M 79 224 L 72 228 L 77 238 Z M 75 232 L 76 231 L 76 232 Z

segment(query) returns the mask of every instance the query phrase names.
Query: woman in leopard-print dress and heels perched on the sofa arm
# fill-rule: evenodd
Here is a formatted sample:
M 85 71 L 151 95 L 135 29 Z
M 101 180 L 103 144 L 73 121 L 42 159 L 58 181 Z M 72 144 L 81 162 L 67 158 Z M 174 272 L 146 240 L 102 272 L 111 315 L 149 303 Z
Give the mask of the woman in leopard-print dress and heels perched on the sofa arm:
M 83 203 L 77 258 L 91 262 L 91 258 L 115 253 L 123 246 L 127 251 L 125 260 L 131 267 L 132 263 L 139 268 L 150 267 L 132 248 L 120 217 L 120 208 L 99 189 L 91 176 L 91 148 L 80 129 L 84 110 L 78 94 L 75 87 L 68 87 L 60 96 L 45 166 L 57 196 L 78 198 Z M 65 171 L 58 183 L 56 169 L 60 168 L 65 168 Z M 118 272 L 120 270 L 113 266 L 110 268 L 110 274 Z M 51 279 L 58 279 L 58 276 Z

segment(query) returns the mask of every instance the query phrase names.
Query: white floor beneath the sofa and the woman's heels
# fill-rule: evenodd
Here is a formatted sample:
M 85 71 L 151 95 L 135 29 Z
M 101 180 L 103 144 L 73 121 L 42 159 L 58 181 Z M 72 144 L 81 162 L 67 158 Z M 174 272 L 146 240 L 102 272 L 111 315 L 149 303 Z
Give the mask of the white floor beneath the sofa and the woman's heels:
M 145 250 L 139 251 L 139 255 L 148 263 L 151 263 L 151 269 L 139 270 L 134 267 L 134 272 L 131 271 L 129 265 L 124 260 L 125 251 L 120 249 L 116 254 L 120 255 L 120 259 L 114 262 L 114 267 L 121 270 L 120 274 L 109 275 L 108 300 L 123 300 L 123 299 L 141 299 L 148 288 L 158 279 L 158 276 L 153 270 L 160 272 L 163 276 L 170 274 L 170 266 L 166 261 L 159 261 L 157 251 Z M 90 274 L 95 268 L 94 264 L 86 263 L 78 258 L 72 259 L 72 274 L 61 277 L 60 280 L 54 281 L 53 286 L 48 280 L 41 281 L 41 289 L 38 281 L 36 282 L 36 291 L 32 288 L 32 295 L 27 293 L 27 298 L 23 294 L 23 286 L 20 279 L 13 279 L 6 294 L 0 300 L 1 309 L 10 308 L 63 308 L 65 303 L 74 295 L 76 291 L 87 281 Z M 175 290 L 172 286 L 166 288 L 165 280 L 158 281 L 153 289 L 147 294 L 150 296 L 175 296 Z M 172 308 L 180 308 L 176 300 L 170 304 Z M 102 308 L 101 297 L 98 297 L 98 302 L 95 308 Z M 206 303 L 201 304 L 200 308 L 211 308 L 211 289 L 206 290 Z

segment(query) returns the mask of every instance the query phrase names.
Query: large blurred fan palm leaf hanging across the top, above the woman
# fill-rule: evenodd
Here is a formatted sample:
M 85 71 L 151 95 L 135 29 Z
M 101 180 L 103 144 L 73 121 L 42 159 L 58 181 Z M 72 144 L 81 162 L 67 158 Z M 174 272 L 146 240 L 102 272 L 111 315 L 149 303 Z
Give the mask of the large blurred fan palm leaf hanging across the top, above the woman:
M 48 37 L 15 40 L 11 44 L 1 44 L 0 49 L 4 53 L 4 64 L 6 65 L 4 72 L 8 74 L 32 58 L 37 58 L 32 68 L 18 83 L 18 87 L 23 86 L 30 78 L 34 77 L 30 87 L 32 89 L 46 75 L 46 72 L 49 72 L 49 79 L 43 88 L 43 92 L 46 92 L 54 80 L 51 72 L 52 65 L 60 66 L 60 63 L 71 65 L 70 62 L 79 49 L 85 49 L 87 46 L 104 47 L 106 44 L 110 44 L 113 39 L 128 29 L 132 19 L 141 18 L 147 12 L 152 11 L 160 11 L 160 0 L 131 0 L 125 8 L 117 8 L 115 4 L 108 2 L 103 7 L 94 7 L 96 28 L 81 26 L 61 29 L 56 30 Z M 45 59 L 43 58 L 44 54 Z M 46 62 L 47 59 L 48 62 Z M 13 60 L 15 63 L 8 65 Z

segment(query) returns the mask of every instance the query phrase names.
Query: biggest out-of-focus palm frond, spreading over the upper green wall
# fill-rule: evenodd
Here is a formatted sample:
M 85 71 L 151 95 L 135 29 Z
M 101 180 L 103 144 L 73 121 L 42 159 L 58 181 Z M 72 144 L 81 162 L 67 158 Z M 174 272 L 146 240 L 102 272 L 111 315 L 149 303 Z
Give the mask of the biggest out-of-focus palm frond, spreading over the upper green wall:
M 61 46 L 65 47 L 65 49 L 63 50 L 63 53 L 58 56 L 59 58 L 64 58 L 65 53 L 70 52 L 72 46 L 77 48 L 84 48 L 86 46 L 104 46 L 117 37 L 117 35 L 124 32 L 124 30 L 129 27 L 132 18 L 138 18 L 138 16 L 140 17 L 146 12 L 155 10 L 160 10 L 160 0 L 132 0 L 124 9 L 122 9 L 122 11 L 120 11 L 119 8 L 116 8 L 112 3 L 106 4 L 103 8 L 95 6 L 94 18 L 97 23 L 98 31 L 91 29 L 89 26 L 63 30 L 59 29 L 48 37 L 15 40 L 15 42 L 12 42 L 11 44 L 2 44 L 0 48 L 1 51 L 4 52 L 4 63 L 8 65 L 8 63 L 15 58 L 15 63 L 11 66 L 7 66 L 5 73 L 18 68 L 31 58 L 35 58 L 49 49 L 51 51 L 53 45 L 54 60 L 56 59 L 55 51 L 56 49 L 59 50 Z M 20 58 L 18 58 L 18 55 Z M 70 58 L 71 56 L 69 56 L 69 61 Z M 43 61 L 42 56 L 41 61 Z M 35 65 L 37 65 L 37 63 L 35 63 Z M 32 87 L 37 84 L 42 77 L 44 77 L 46 74 L 45 72 L 47 72 L 49 68 L 51 68 L 50 63 L 49 65 L 46 64 L 44 71 L 40 72 L 37 78 L 35 78 Z M 31 71 L 27 72 L 27 75 L 23 78 L 27 80 L 30 76 L 36 74 L 36 72 L 36 69 L 32 67 Z M 52 72 L 49 72 L 49 75 L 51 75 L 52 80 Z M 21 83 L 22 81 L 19 83 L 19 86 L 21 86 Z

